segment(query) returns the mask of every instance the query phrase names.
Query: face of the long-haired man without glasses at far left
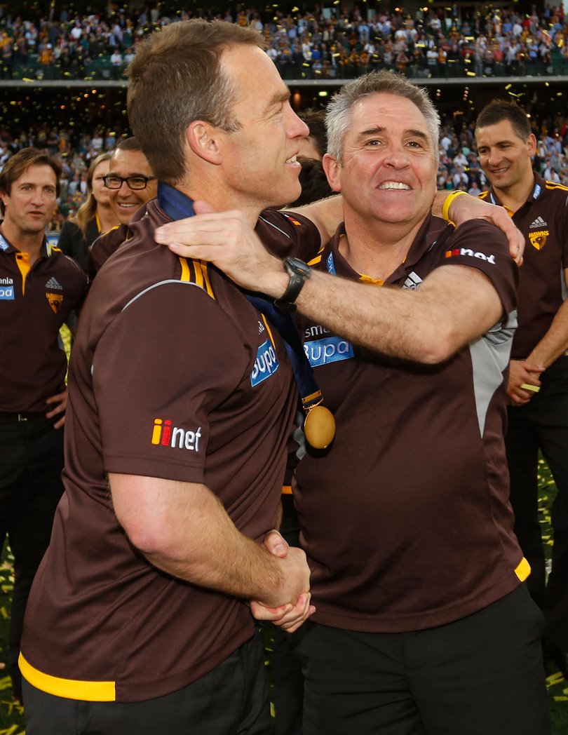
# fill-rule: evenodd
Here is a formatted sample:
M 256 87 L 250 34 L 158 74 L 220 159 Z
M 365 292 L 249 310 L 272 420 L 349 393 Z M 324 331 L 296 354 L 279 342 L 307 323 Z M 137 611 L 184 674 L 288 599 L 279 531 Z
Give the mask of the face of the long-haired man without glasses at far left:
M 12 182 L 10 194 L 1 193 L 3 226 L 10 239 L 43 234 L 57 204 L 57 178 L 48 165 L 31 165 Z

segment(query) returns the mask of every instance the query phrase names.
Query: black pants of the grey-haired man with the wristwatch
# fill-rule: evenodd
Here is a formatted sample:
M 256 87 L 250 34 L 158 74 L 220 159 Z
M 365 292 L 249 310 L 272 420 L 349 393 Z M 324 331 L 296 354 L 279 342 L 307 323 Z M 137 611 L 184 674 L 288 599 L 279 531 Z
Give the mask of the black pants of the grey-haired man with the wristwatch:
M 306 623 L 303 735 L 549 735 L 543 628 L 524 585 L 424 631 Z

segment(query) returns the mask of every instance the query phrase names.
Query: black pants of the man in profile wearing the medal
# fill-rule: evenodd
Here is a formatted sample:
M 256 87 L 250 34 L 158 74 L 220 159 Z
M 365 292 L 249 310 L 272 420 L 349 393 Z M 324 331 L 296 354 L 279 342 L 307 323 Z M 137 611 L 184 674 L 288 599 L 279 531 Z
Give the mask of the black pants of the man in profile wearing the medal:
M 193 684 L 134 703 L 64 699 L 24 679 L 26 735 L 267 735 L 263 658 L 256 634 Z

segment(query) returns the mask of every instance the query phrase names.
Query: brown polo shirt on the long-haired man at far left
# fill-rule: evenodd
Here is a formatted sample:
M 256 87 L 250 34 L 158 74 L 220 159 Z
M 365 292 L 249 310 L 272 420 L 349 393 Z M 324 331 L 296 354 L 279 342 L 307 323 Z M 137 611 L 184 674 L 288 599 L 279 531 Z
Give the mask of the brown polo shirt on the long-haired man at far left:
M 74 260 L 42 245 L 27 253 L 0 235 L 0 411 L 46 412 L 46 398 L 65 390 L 61 326 L 85 298 L 87 278 Z

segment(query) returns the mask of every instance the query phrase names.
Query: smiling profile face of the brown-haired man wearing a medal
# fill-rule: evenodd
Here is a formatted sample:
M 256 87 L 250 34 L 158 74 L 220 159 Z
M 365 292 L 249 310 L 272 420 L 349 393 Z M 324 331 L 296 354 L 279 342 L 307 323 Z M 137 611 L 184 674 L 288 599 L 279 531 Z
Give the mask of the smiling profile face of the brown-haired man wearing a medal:
M 308 128 L 290 107 L 290 91 L 276 66 L 256 46 L 233 46 L 221 68 L 234 85 L 236 132 L 220 133 L 223 180 L 231 207 L 248 211 L 294 201 L 301 192 L 296 161 Z

